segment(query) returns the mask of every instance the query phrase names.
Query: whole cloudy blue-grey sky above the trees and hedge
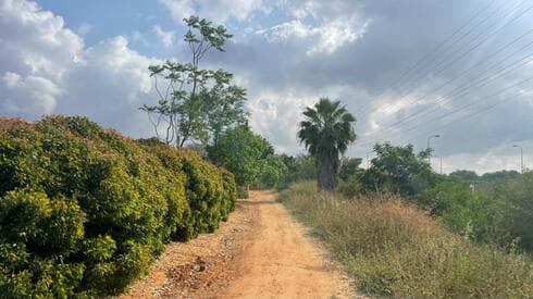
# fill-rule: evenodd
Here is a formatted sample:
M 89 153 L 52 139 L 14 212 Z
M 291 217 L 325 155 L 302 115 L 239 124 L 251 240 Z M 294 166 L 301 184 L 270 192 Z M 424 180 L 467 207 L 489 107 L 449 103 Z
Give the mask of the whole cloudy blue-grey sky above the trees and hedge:
M 329 97 L 358 119 L 349 155 L 438 134 L 444 172 L 518 170 L 512 145 L 533 165 L 532 0 L 0 0 L 0 116 L 80 114 L 151 136 L 147 67 L 187 59 L 191 14 L 234 34 L 204 63 L 235 74 L 281 152 L 303 152 L 300 112 Z

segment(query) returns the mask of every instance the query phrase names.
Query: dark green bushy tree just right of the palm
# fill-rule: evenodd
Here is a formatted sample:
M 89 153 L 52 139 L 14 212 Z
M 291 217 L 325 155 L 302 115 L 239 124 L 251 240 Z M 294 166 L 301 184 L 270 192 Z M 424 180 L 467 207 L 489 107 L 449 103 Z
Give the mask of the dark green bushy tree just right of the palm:
M 367 191 L 385 191 L 401 196 L 414 196 L 424 188 L 434 186 L 437 175 L 425 161 L 425 152 L 418 157 L 412 145 L 375 145 L 376 158 L 361 177 Z

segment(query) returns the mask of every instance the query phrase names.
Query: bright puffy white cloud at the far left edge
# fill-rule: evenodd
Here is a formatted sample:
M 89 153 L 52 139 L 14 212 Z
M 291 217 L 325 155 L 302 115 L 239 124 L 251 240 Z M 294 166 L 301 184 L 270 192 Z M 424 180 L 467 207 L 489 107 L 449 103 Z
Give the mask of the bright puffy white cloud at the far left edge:
M 82 61 L 82 38 L 34 2 L 4 0 L 0 40 L 2 114 L 35 119 L 53 112 L 65 72 Z

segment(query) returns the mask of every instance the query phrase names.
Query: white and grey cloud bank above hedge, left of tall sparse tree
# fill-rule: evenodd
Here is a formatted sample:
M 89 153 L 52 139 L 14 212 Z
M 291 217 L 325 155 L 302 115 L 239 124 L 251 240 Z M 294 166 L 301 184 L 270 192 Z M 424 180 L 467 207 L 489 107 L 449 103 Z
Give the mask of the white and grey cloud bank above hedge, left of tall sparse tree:
M 1 116 L 78 114 L 132 136 L 151 134 L 138 108 L 156 99 L 148 66 L 160 61 L 132 50 L 126 37 L 85 48 L 62 17 L 35 2 L 4 0 L 0 41 Z

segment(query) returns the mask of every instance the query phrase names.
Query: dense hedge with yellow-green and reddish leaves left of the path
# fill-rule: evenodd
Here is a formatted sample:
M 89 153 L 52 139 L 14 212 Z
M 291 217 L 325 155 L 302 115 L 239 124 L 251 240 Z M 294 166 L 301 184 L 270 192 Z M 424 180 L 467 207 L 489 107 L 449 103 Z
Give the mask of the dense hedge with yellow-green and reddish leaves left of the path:
M 171 239 L 214 231 L 231 173 L 84 117 L 0 120 L 0 294 L 94 297 L 142 275 Z

